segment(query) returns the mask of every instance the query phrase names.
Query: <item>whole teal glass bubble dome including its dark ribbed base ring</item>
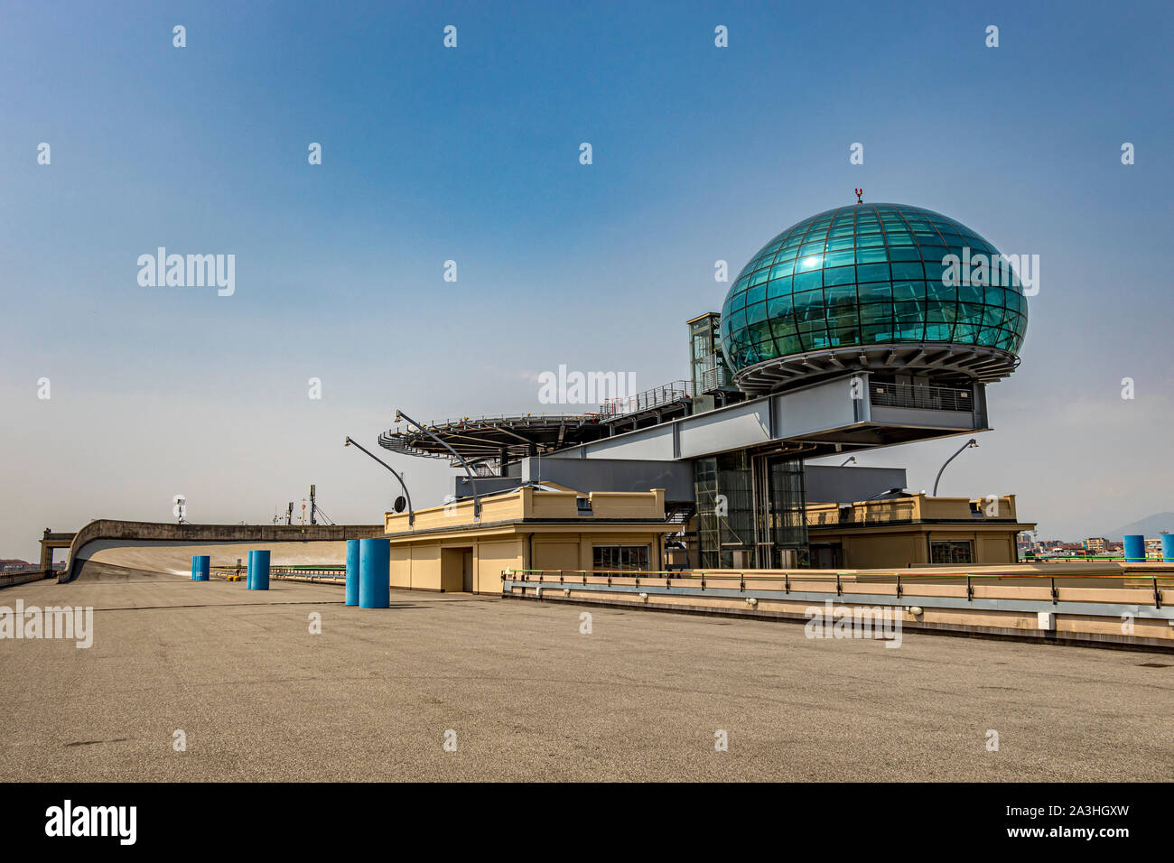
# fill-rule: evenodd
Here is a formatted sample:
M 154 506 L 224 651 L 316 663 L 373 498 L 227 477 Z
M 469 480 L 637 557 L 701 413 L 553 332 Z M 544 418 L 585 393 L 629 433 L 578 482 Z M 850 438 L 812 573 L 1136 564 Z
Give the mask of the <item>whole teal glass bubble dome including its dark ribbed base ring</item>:
M 950 268 L 947 255 L 994 265 Z M 734 281 L 721 318 L 727 363 L 749 392 L 842 371 L 845 357 L 855 368 L 997 380 L 1018 365 L 1027 329 L 1019 276 L 999 262 L 980 235 L 920 207 L 819 213 L 767 243 Z

